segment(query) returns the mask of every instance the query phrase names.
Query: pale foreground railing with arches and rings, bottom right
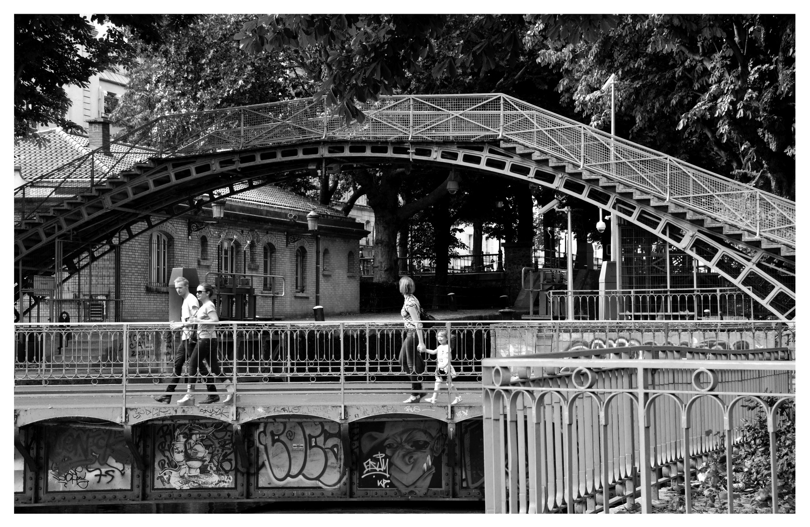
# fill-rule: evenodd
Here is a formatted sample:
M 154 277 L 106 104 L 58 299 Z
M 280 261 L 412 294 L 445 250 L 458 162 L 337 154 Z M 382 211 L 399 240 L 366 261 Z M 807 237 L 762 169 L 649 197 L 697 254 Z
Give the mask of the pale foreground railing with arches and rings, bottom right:
M 726 466 L 735 466 L 732 445 L 744 440 L 751 402 L 765 411 L 777 474 L 777 408 L 795 399 L 785 348 L 633 346 L 634 360 L 607 350 L 554 355 L 484 359 L 487 512 L 607 513 L 622 501 L 637 508 L 640 498 L 649 513 L 663 483 L 679 478 L 685 512 L 697 512 L 692 480 L 723 446 Z M 737 489 L 742 474 L 724 475 L 727 489 Z M 775 513 L 777 478 L 769 490 Z M 734 512 L 734 499 L 725 507 Z

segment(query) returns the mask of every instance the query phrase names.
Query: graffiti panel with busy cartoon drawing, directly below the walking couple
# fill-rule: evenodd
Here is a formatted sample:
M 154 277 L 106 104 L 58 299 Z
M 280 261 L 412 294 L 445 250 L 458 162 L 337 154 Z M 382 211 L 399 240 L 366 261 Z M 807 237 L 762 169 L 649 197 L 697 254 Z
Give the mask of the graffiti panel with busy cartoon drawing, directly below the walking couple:
M 235 488 L 235 454 L 230 427 L 216 424 L 164 424 L 155 432 L 158 489 Z

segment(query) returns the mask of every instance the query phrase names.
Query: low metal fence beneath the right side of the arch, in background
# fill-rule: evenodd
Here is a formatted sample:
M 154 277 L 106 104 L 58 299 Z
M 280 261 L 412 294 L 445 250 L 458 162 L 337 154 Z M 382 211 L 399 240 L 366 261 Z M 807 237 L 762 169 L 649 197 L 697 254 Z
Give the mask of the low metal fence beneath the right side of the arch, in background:
M 634 289 L 573 291 L 569 317 L 567 291 L 548 291 L 552 319 L 599 320 L 751 320 L 755 300 L 736 287 L 714 289 Z M 757 303 L 757 305 L 759 305 Z M 768 313 L 770 315 L 770 312 Z

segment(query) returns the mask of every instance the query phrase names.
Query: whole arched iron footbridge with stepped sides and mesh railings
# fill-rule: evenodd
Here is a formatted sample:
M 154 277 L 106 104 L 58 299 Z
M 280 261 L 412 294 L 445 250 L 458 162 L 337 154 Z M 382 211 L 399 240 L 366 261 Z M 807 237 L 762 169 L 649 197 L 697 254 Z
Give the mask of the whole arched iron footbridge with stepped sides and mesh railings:
M 616 212 L 795 316 L 795 202 L 503 94 L 386 96 L 345 125 L 311 99 L 159 117 L 15 189 L 15 277 L 71 272 L 215 199 L 339 165 L 432 164 Z M 204 196 L 205 199 L 199 199 Z

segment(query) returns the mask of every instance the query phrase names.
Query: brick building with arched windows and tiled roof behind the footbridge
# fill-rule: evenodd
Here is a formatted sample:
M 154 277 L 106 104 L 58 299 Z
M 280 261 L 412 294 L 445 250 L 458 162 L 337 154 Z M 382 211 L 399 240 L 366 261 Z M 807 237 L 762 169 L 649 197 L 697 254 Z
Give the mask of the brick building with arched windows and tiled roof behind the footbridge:
M 28 180 L 104 140 L 103 134 L 88 138 L 60 129 L 44 137 L 39 145 L 15 144 L 15 165 Z M 221 219 L 211 206 L 170 219 L 46 291 L 36 309 L 16 308 L 28 311 L 25 321 L 55 320 L 62 312 L 71 321 L 164 321 L 175 294 L 168 283 L 172 270 L 184 268 L 195 270 L 200 282 L 215 283 L 225 319 L 311 316 L 317 282 L 326 315 L 359 311 L 360 240 L 369 234 L 363 223 L 272 185 L 220 202 Z M 320 216 L 318 280 L 316 240 L 306 227 L 312 210 Z M 67 276 L 66 269 L 60 272 Z

